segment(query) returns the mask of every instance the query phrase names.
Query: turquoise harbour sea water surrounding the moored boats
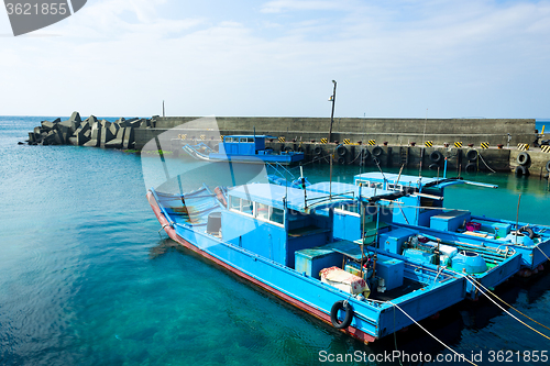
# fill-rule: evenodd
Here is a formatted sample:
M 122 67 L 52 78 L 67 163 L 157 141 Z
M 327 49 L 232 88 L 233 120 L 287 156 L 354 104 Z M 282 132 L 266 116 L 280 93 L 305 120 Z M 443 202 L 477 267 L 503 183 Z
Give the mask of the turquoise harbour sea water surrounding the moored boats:
M 396 344 L 408 354 L 450 355 L 418 328 L 363 345 L 176 248 L 157 233 L 139 155 L 18 145 L 43 119 L 0 117 L 1 365 L 316 365 L 320 352 L 381 355 Z M 336 166 L 333 176 L 351 181 L 358 173 Z M 329 168 L 308 165 L 305 174 L 318 181 Z M 194 177 L 202 178 L 216 177 Z M 446 207 L 515 220 L 521 193 L 520 220 L 550 224 L 544 180 L 469 178 L 499 188 L 450 188 Z M 549 271 L 510 280 L 497 293 L 531 318 L 550 319 Z M 494 365 L 490 351 L 550 348 L 486 300 L 422 325 L 459 353 L 485 352 L 479 365 Z

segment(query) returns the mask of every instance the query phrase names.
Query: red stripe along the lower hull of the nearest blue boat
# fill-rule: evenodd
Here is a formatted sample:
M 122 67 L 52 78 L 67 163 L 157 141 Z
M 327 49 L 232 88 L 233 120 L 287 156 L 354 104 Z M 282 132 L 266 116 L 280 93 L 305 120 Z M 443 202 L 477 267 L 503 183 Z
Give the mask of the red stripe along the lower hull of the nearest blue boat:
M 168 234 L 168 236 L 174 240 L 175 242 L 178 242 L 179 244 L 182 244 L 183 246 L 185 246 L 186 248 L 188 249 L 191 249 L 198 254 L 200 254 L 201 256 L 215 262 L 216 264 L 222 266 L 223 268 L 232 271 L 233 274 L 242 277 L 242 278 L 245 278 L 248 279 L 249 281 L 253 282 L 254 285 L 256 286 L 260 286 L 261 288 L 270 291 L 271 293 L 277 296 L 278 298 L 285 300 L 286 302 L 288 303 L 292 303 L 293 306 L 306 311 L 307 313 L 314 315 L 315 318 L 319 319 L 319 320 L 322 320 L 323 322 L 326 323 L 329 323 L 329 324 L 332 324 L 331 321 L 330 321 L 330 314 L 326 314 L 323 313 L 322 311 L 316 309 L 316 308 L 312 308 L 310 306 L 308 306 L 307 303 L 304 303 L 301 301 L 298 301 L 296 300 L 295 298 L 293 297 L 289 297 L 288 295 L 284 293 L 284 292 L 280 292 L 276 289 L 274 289 L 273 287 L 271 286 L 267 286 L 266 284 L 255 279 L 254 277 L 251 277 L 244 273 L 242 273 L 241 270 L 230 266 L 229 264 L 216 258 L 215 256 L 206 253 L 205 251 L 198 248 L 197 246 L 193 245 L 191 243 L 187 242 L 186 240 L 184 240 L 182 236 L 179 236 L 176 231 L 169 225 L 168 223 L 168 220 L 166 220 L 166 218 L 164 217 L 164 214 L 162 213 L 161 209 L 158 208 L 158 204 L 155 200 L 155 198 L 153 197 L 153 195 L 151 192 L 147 192 L 147 200 L 148 200 L 148 203 L 151 204 L 151 208 L 153 209 L 153 211 L 155 212 L 155 215 L 156 218 L 158 219 L 158 222 L 161 223 L 161 225 L 163 225 L 164 228 L 164 231 L 166 232 L 166 234 Z M 343 333 L 345 334 L 349 334 L 351 336 L 353 336 L 354 339 L 367 344 L 370 342 L 374 342 L 376 339 L 373 337 L 372 335 L 370 334 L 366 334 L 365 332 L 362 332 L 353 326 L 349 326 L 346 330 L 341 330 Z

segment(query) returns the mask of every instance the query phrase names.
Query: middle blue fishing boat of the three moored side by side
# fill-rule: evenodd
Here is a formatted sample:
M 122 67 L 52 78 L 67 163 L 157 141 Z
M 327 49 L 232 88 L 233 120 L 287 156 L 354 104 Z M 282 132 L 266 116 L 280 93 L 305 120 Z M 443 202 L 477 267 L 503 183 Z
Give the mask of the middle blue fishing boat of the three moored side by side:
M 487 245 L 480 236 L 462 237 L 454 232 L 396 223 L 404 215 L 398 202 L 418 192 L 340 182 L 315 184 L 307 189 L 331 195 L 354 192 L 355 202 L 334 209 L 334 236 L 402 255 L 438 271 L 446 268 L 458 276 L 468 276 L 471 280 L 466 284 L 468 298 L 477 298 L 479 285 L 494 288 L 520 269 L 521 254 L 515 247 Z

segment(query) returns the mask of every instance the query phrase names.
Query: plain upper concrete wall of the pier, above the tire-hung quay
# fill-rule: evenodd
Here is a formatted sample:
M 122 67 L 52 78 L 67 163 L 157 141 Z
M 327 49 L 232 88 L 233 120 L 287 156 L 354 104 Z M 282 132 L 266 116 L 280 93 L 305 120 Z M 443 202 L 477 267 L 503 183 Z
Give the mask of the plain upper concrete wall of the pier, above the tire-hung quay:
M 153 131 L 136 133 L 136 148 L 143 147 L 152 133 L 195 121 L 195 117 L 170 117 L 151 119 Z M 257 134 L 284 136 L 286 141 L 297 140 L 316 142 L 328 137 L 329 118 L 274 118 L 274 117 L 217 117 L 221 134 Z M 186 132 L 193 134 L 194 131 Z M 195 131 L 197 132 L 197 131 Z M 508 142 L 508 134 L 510 141 Z M 143 136 L 142 136 L 143 135 Z M 482 142 L 491 146 L 497 144 L 516 146 L 518 143 L 531 144 L 535 140 L 535 119 L 334 119 L 332 141 L 366 143 L 375 140 L 376 144 L 387 142 L 391 145 L 418 145 L 431 141 L 433 145 L 461 142 L 463 146 Z

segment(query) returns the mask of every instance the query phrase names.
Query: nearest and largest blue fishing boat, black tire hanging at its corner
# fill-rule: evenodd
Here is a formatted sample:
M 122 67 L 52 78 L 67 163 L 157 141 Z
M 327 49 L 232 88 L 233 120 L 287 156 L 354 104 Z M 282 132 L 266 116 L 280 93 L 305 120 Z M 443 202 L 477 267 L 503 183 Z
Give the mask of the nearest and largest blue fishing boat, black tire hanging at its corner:
M 334 237 L 336 208 L 362 195 L 351 186 L 327 195 L 204 185 L 185 195 L 150 189 L 147 199 L 174 241 L 365 343 L 463 300 L 457 271 Z

